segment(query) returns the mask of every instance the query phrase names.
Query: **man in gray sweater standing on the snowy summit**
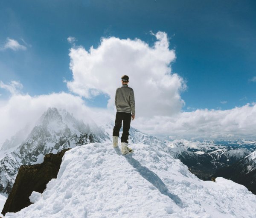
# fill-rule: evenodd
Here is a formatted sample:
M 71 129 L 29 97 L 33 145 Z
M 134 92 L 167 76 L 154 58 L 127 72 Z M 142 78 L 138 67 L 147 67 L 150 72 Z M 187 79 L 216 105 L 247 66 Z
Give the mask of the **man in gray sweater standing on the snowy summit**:
M 122 154 L 132 153 L 134 150 L 127 147 L 131 120 L 135 118 L 134 91 L 128 87 L 129 76 L 121 77 L 122 86 L 116 89 L 116 120 L 113 128 L 113 147 L 117 147 L 118 136 L 123 121 L 123 132 L 121 137 Z

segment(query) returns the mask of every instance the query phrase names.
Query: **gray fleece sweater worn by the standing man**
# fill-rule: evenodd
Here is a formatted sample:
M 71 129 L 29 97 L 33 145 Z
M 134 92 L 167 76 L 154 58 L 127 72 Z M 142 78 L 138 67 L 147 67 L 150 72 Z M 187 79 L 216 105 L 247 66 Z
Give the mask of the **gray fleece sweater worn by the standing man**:
M 127 84 L 123 84 L 121 87 L 116 89 L 116 111 L 132 113 L 135 115 L 135 99 L 134 91 L 128 87 Z

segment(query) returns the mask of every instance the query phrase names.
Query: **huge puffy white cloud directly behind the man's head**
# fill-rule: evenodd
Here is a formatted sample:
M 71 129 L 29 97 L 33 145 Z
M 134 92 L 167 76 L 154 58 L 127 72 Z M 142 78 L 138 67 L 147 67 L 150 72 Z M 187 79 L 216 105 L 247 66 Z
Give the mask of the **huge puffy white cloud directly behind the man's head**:
M 70 69 L 73 80 L 67 82 L 70 91 L 85 98 L 100 94 L 109 96 L 108 108 L 114 107 L 116 88 L 121 76 L 129 76 L 134 89 L 138 116 L 170 116 L 181 110 L 184 101 L 180 92 L 186 88 L 183 79 L 172 73 L 170 64 L 175 51 L 169 49 L 167 34 L 154 34 L 153 47 L 140 39 L 102 38 L 97 48 L 70 49 Z

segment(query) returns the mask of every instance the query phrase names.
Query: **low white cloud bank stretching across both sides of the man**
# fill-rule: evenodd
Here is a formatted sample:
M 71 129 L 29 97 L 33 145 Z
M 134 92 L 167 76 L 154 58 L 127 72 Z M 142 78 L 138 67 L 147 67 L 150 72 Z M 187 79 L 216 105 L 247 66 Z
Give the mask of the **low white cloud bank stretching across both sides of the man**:
M 0 102 L 0 142 L 9 139 L 25 125 L 33 127 L 48 107 L 65 108 L 78 119 L 97 125 L 105 125 L 115 119 L 114 109 L 88 107 L 81 97 L 70 93 L 41 96 L 17 94 L 8 101 Z M 255 139 L 255 117 L 256 105 L 247 104 L 231 110 L 198 109 L 150 118 L 137 113 L 131 125 L 144 133 L 170 136 L 170 139 Z

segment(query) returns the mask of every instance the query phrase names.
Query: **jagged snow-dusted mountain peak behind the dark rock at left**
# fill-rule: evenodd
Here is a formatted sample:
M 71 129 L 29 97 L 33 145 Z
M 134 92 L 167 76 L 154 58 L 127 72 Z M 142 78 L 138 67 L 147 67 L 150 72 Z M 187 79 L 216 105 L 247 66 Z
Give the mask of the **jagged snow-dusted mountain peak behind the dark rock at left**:
M 90 128 L 66 110 L 48 108 L 26 139 L 0 159 L 0 193 L 10 192 L 20 165 L 40 164 L 46 153 L 106 139 L 109 137 L 101 128 Z

